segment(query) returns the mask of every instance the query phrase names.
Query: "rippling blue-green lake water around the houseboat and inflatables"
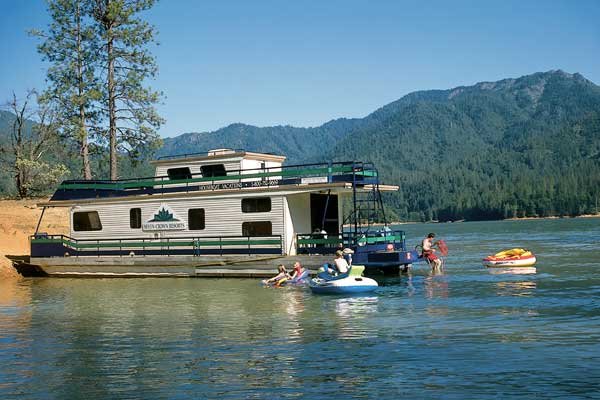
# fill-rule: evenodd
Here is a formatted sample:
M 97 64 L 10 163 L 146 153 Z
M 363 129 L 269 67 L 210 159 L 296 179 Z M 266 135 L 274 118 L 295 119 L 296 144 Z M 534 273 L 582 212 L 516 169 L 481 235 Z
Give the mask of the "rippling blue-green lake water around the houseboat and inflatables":
M 370 296 L 248 279 L 0 284 L 0 399 L 600 398 L 600 219 L 403 225 L 446 240 Z M 537 274 L 481 258 L 526 247 Z

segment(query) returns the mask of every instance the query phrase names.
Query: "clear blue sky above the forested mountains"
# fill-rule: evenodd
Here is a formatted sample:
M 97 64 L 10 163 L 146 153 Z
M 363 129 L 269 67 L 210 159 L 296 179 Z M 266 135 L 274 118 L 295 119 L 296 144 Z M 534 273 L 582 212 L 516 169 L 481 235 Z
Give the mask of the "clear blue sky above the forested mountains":
M 0 101 L 43 88 L 26 31 L 41 0 L 0 0 Z M 146 18 L 165 94 L 162 136 L 234 122 L 316 126 L 415 90 L 538 71 L 600 83 L 600 1 L 162 0 Z

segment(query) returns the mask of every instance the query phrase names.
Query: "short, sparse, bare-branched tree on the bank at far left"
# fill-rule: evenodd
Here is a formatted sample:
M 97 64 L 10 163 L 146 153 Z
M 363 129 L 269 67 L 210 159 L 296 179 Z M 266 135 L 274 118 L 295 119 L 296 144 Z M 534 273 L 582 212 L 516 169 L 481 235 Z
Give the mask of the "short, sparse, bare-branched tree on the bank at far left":
M 58 145 L 56 113 L 47 103 L 34 108 L 32 103 L 36 99 L 35 91 L 29 91 L 22 101 L 13 93 L 4 105 L 14 114 L 14 119 L 10 141 L 0 147 L 0 162 L 14 174 L 20 198 L 46 191 L 69 172 L 63 164 L 50 164 L 44 160 L 44 156 Z

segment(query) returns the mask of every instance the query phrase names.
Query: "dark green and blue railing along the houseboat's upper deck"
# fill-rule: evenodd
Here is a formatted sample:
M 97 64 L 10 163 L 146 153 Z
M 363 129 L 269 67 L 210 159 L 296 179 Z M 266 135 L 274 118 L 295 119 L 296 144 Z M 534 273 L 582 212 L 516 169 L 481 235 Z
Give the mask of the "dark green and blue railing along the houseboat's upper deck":
M 311 185 L 335 182 L 375 184 L 377 169 L 370 162 L 344 161 L 226 171 L 225 176 L 191 174 L 187 179 L 168 176 L 120 180 L 63 181 L 51 201 L 136 195 L 202 192 L 244 188 Z

